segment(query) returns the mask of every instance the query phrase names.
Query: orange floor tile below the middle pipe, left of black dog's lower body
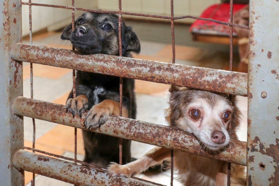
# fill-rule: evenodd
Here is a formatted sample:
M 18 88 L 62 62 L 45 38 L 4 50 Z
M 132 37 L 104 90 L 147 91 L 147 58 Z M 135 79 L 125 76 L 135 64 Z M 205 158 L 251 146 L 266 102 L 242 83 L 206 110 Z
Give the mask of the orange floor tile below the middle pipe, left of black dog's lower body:
M 37 140 L 37 143 L 62 151 L 74 151 L 74 128 L 57 125 Z M 77 153 L 84 154 L 81 129 L 77 129 Z

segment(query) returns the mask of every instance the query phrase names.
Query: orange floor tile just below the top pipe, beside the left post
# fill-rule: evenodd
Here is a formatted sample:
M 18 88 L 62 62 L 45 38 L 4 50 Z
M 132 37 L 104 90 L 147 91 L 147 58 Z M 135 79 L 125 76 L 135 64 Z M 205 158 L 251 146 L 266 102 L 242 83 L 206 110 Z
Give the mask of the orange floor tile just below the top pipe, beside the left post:
M 72 71 L 68 68 L 59 68 L 55 66 L 48 66 L 33 63 L 33 76 L 58 79 L 68 72 Z M 23 66 L 23 80 L 30 77 L 30 65 Z

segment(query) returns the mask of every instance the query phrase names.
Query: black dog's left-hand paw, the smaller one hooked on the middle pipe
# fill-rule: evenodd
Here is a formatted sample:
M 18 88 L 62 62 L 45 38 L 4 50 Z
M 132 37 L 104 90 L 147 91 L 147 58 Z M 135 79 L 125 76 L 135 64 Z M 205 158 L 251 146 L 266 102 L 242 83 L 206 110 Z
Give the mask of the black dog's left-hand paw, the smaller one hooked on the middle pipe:
M 81 118 L 82 112 L 85 112 L 88 108 L 88 99 L 85 95 L 79 95 L 76 98 L 68 99 L 66 103 L 66 113 L 70 111 L 73 114 L 73 118 L 78 114 Z

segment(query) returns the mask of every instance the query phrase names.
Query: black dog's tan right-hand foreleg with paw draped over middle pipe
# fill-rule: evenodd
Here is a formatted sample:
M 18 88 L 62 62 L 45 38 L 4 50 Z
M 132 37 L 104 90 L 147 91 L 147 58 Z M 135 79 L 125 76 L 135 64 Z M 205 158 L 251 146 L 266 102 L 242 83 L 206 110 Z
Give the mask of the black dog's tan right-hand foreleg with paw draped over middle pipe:
M 94 105 L 85 117 L 85 128 L 95 128 L 100 127 L 109 115 L 119 116 L 119 103 L 112 100 L 104 100 L 96 105 Z M 128 118 L 128 110 L 126 107 L 122 106 L 122 116 Z

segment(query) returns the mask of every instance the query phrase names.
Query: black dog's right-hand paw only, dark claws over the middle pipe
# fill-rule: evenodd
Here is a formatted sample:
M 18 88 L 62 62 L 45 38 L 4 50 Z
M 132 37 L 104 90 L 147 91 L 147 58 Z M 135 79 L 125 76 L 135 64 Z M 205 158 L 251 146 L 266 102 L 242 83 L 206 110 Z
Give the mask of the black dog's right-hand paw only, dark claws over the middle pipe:
M 109 107 L 104 107 L 102 104 L 94 105 L 86 114 L 84 125 L 86 129 L 100 127 L 108 120 L 111 114 Z

